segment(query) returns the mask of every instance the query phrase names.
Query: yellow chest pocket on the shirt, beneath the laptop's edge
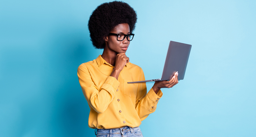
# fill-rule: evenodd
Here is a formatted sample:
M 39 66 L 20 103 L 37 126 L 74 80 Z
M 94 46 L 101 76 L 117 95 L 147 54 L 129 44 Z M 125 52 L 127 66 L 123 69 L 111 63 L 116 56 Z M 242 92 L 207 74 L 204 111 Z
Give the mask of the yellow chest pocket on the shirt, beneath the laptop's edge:
M 136 97 L 137 88 L 134 83 L 128 84 L 127 82 L 131 82 L 132 80 L 125 80 L 124 79 L 124 94 L 128 95 L 129 97 Z

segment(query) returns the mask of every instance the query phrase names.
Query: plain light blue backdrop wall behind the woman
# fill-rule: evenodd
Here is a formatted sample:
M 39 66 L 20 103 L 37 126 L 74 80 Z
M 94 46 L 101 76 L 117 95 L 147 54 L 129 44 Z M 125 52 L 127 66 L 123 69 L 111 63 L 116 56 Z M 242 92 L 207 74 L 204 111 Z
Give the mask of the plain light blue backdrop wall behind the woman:
M 0 2 L 1 137 L 95 136 L 77 68 L 102 54 L 87 23 L 103 2 Z M 256 2 L 125 2 L 138 15 L 127 56 L 146 79 L 161 77 L 170 40 L 192 45 L 184 80 L 142 121 L 144 137 L 256 136 Z

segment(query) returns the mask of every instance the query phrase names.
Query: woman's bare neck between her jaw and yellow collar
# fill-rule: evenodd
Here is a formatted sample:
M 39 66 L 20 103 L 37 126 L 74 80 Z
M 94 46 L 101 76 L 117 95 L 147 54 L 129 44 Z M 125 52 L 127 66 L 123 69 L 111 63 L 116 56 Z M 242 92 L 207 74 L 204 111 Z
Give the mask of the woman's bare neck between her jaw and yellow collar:
M 116 64 L 116 55 L 118 53 L 116 53 L 115 51 L 111 50 L 108 48 L 108 46 L 105 46 L 103 53 L 101 55 L 101 57 L 109 64 L 111 64 L 112 66 L 115 66 Z

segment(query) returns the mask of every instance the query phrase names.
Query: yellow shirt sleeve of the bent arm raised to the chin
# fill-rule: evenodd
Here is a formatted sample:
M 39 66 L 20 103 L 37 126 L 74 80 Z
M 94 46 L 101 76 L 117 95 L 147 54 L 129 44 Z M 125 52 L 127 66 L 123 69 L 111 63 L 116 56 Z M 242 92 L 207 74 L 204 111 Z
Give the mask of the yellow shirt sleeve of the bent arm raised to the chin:
M 103 113 L 113 100 L 120 82 L 115 77 L 108 76 L 105 83 L 98 88 L 94 84 L 90 72 L 84 64 L 78 67 L 77 75 L 89 106 L 97 113 Z

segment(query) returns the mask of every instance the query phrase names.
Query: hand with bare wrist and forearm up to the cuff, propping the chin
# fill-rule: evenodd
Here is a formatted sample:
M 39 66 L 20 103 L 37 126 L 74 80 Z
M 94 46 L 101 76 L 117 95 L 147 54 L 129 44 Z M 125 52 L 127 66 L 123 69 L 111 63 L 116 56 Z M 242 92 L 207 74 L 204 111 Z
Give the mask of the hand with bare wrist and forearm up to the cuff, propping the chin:
M 117 54 L 115 68 L 113 69 L 110 76 L 113 76 L 118 80 L 118 76 L 120 72 L 124 69 L 124 66 L 126 65 L 126 63 L 129 63 L 129 58 L 125 55 L 125 53 Z

